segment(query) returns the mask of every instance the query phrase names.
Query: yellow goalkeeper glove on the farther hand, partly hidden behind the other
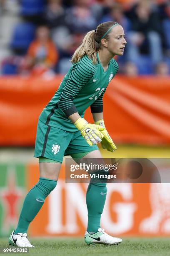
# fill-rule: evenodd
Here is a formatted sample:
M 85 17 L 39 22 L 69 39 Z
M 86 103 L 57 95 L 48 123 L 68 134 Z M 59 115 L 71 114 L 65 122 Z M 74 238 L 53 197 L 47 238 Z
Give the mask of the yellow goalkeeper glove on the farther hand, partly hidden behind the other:
M 95 124 L 105 127 L 105 123 L 103 119 L 96 121 Z M 103 134 L 102 141 L 100 142 L 102 145 L 102 148 L 106 148 L 108 151 L 111 151 L 111 152 L 116 150 L 117 148 L 113 143 L 112 138 L 110 138 L 109 133 L 107 133 L 107 130 L 106 129 L 102 130 L 101 133 Z

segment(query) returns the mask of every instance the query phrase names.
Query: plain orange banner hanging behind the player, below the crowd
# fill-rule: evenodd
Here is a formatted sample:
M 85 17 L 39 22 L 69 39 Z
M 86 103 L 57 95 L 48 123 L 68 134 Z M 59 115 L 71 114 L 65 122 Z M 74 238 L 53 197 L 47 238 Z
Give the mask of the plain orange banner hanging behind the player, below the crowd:
M 63 76 L 0 78 L 0 145 L 34 146 L 38 116 Z M 104 96 L 115 143 L 170 144 L 170 78 L 116 76 Z M 90 110 L 85 114 L 92 121 Z

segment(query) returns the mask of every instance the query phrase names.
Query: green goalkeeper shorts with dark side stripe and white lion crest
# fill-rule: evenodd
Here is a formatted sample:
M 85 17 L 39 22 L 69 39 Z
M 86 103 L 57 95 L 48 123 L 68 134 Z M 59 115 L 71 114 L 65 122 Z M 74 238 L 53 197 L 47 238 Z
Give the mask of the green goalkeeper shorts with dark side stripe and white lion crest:
M 62 163 L 64 156 L 90 152 L 98 149 L 97 145 L 90 146 L 82 137 L 80 131 L 69 132 L 45 125 L 38 121 L 35 141 L 35 157 L 45 157 Z M 75 158 L 75 156 L 74 156 Z

